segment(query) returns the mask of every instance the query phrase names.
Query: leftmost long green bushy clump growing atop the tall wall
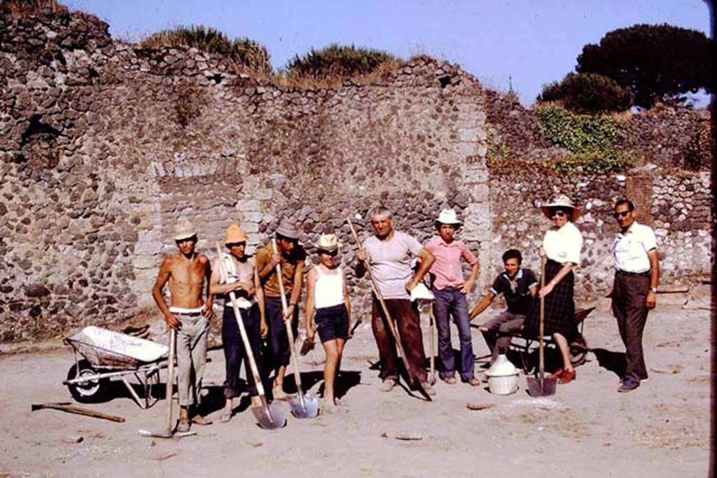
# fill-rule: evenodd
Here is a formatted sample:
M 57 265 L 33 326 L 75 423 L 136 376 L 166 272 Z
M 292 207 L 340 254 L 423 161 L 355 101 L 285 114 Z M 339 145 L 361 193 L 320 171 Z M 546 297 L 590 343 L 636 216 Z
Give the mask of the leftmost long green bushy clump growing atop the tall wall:
M 201 25 L 161 30 L 141 42 L 141 46 L 145 48 L 177 45 L 222 55 L 234 62 L 239 70 L 249 70 L 260 75 L 270 75 L 272 72 L 269 52 L 262 44 L 248 38 L 229 40 L 223 32 Z

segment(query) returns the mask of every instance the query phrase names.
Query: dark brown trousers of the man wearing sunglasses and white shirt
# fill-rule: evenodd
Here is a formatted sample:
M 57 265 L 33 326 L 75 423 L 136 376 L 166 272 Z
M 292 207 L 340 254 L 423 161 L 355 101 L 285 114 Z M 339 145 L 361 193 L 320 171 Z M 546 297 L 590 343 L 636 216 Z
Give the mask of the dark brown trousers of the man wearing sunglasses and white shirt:
M 642 331 L 647 322 L 647 292 L 650 277 L 615 274 L 612 286 L 612 314 L 627 352 L 627 368 L 623 378 L 636 382 L 647 378 L 645 357 L 642 355 Z

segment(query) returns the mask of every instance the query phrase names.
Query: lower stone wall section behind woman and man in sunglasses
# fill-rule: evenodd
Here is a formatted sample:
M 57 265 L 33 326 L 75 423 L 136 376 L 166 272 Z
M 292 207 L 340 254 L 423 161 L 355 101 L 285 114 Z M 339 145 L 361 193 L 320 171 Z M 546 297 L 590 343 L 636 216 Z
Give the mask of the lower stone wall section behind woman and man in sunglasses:
M 616 224 L 614 202 L 630 198 L 637 221 L 655 229 L 660 253 L 660 283 L 684 285 L 710 277 L 713 264 L 709 173 L 632 171 L 630 175 L 567 178 L 535 167 L 491 171 L 493 211 L 492 273 L 502 270 L 500 253 L 517 248 L 523 264 L 540 269 L 538 248 L 549 219 L 539 209 L 542 201 L 566 193 L 581 207 L 576 221 L 584 239 L 582 262 L 576 269 L 576 295 L 580 302 L 604 297 L 612 287 L 612 241 Z

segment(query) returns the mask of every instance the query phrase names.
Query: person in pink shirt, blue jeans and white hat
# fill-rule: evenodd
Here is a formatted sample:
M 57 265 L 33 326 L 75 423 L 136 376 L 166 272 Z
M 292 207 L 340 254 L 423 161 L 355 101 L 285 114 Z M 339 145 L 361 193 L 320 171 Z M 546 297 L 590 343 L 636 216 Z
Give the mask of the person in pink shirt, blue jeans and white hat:
M 445 383 L 456 383 L 455 357 L 450 341 L 450 317 L 453 317 L 460 338 L 460 378 L 471 386 L 478 386 L 480 380 L 474 375 L 473 342 L 465 295 L 475 284 L 479 265 L 478 259 L 465 244 L 454 238 L 460 225 L 455 211 L 443 209 L 436 221 L 439 235 L 425 245 L 436 258 L 429 272 L 435 295 L 433 310 L 438 325 L 438 356 L 442 363 L 439 376 Z M 467 281 L 463 277 L 461 259 L 473 267 Z

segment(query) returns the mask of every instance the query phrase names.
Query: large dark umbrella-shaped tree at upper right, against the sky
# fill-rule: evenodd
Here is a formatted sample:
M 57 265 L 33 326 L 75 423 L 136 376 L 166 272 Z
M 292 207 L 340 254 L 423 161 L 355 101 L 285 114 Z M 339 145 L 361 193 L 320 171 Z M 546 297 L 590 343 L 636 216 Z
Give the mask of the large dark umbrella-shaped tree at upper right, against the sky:
M 713 90 L 713 40 L 672 25 L 638 24 L 608 32 L 587 44 L 577 59 L 579 73 L 599 73 L 629 87 L 635 104 Z

